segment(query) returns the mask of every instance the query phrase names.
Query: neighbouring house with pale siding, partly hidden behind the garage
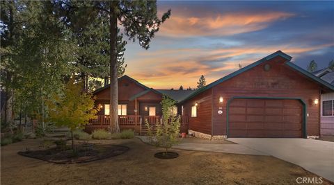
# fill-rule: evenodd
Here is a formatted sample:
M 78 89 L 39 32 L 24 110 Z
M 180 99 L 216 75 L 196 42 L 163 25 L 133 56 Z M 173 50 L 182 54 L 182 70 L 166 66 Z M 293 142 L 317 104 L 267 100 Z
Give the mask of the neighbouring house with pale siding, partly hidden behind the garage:
M 334 85 L 334 71 L 328 68 L 320 69 L 313 74 Z M 320 98 L 320 134 L 334 135 L 334 93 L 321 94 Z

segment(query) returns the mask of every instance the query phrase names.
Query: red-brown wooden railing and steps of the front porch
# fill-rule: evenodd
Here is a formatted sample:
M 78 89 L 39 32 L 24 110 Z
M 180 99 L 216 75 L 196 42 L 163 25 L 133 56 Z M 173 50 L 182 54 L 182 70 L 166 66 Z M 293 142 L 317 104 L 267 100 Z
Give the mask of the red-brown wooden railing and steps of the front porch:
M 187 132 L 189 119 L 188 116 L 180 116 L 180 132 Z M 150 125 L 156 125 L 161 121 L 161 116 L 141 116 L 141 115 L 127 115 L 118 116 L 118 124 L 120 130 L 131 129 L 140 135 L 147 134 L 146 121 Z M 90 119 L 87 125 L 85 125 L 85 131 L 88 133 L 93 132 L 95 129 L 106 129 L 108 130 L 110 125 L 109 115 L 97 115 L 97 118 Z

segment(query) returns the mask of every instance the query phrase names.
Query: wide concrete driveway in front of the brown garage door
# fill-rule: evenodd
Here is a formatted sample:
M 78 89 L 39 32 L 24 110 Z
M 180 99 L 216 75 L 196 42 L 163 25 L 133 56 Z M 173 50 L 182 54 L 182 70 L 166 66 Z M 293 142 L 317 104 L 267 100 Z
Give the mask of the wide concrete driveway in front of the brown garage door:
M 334 182 L 334 142 L 315 139 L 230 138 L 228 141 L 299 165 Z

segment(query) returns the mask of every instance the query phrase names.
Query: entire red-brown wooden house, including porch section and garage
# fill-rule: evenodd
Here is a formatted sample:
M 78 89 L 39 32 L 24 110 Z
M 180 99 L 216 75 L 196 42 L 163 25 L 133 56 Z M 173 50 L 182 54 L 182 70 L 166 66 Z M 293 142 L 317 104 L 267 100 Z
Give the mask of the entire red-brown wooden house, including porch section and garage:
M 167 95 L 177 101 L 175 113 L 182 116 L 182 132 L 188 130 L 195 136 L 320 136 L 319 101 L 321 94 L 333 93 L 334 86 L 291 59 L 277 51 L 196 91 L 156 90 L 123 76 L 118 80 L 120 127 L 145 134 L 143 123 L 157 123 L 159 102 Z M 109 125 L 109 87 L 94 94 L 102 111 L 86 126 L 88 132 Z

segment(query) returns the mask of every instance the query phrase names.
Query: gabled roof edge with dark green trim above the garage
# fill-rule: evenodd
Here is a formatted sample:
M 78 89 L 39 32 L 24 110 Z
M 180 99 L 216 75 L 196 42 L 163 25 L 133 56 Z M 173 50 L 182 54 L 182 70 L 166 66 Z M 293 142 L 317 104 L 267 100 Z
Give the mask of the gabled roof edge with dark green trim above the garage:
M 268 55 L 265 58 L 262 58 L 260 60 L 257 60 L 256 62 L 253 62 L 252 64 L 249 64 L 248 66 L 241 68 L 237 71 L 234 71 L 233 73 L 230 73 L 228 76 L 224 76 L 223 78 L 220 78 L 212 83 L 210 83 L 209 85 L 202 87 L 196 91 L 194 91 L 192 94 L 190 94 L 187 98 L 184 98 L 184 100 L 182 100 L 182 102 L 189 100 L 191 98 L 193 98 L 194 96 L 201 94 L 202 92 L 206 91 L 207 89 L 210 89 L 218 84 L 220 84 L 221 82 L 225 82 L 226 80 L 229 80 L 230 78 L 233 78 L 234 76 L 239 75 L 240 73 L 244 73 L 245 71 L 248 71 L 249 69 L 252 69 L 253 67 L 257 67 L 259 64 L 262 64 L 263 62 L 267 62 L 268 60 L 271 60 L 272 58 L 276 58 L 276 57 L 282 57 L 285 58 L 285 60 L 287 62 L 285 62 L 285 64 L 287 64 L 289 67 L 292 67 L 292 69 L 295 69 L 296 71 L 299 71 L 300 73 L 302 73 L 304 76 L 307 76 L 308 78 L 311 78 L 312 80 L 318 82 L 321 85 L 324 85 L 325 87 L 328 87 L 328 89 L 331 89 L 334 91 L 334 86 L 331 85 L 330 83 L 322 80 L 321 78 L 317 78 L 316 76 L 312 75 L 312 73 L 305 71 L 305 69 L 302 69 L 301 67 L 296 66 L 296 64 L 293 64 L 292 62 L 289 62 L 292 57 L 283 53 L 282 51 L 276 51 L 275 53 L 272 53 L 271 55 Z

